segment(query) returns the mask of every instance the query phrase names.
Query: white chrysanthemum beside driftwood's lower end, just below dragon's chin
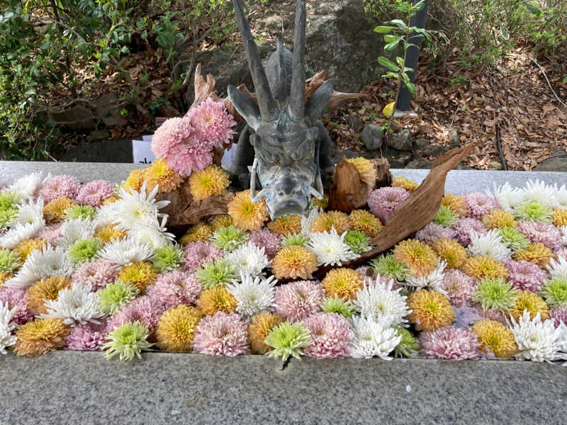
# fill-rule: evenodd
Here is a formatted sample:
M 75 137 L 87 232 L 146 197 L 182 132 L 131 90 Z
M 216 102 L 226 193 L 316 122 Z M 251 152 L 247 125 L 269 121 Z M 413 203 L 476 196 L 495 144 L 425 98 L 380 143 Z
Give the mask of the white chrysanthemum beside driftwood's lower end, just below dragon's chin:
M 344 232 L 339 236 L 335 227 L 330 232 L 317 232 L 310 234 L 308 249 L 315 254 L 319 265 L 342 266 L 345 261 L 354 260 L 354 254 L 347 244 L 344 243 Z

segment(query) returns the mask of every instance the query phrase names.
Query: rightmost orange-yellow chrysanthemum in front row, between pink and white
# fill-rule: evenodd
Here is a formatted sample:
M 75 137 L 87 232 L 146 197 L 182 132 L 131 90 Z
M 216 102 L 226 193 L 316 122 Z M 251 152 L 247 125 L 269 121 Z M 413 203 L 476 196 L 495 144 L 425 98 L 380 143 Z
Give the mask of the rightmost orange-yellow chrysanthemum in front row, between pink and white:
M 504 324 L 495 320 L 479 320 L 471 328 L 478 337 L 478 344 L 485 353 L 489 350 L 496 357 L 511 358 L 518 351 L 514 334 Z

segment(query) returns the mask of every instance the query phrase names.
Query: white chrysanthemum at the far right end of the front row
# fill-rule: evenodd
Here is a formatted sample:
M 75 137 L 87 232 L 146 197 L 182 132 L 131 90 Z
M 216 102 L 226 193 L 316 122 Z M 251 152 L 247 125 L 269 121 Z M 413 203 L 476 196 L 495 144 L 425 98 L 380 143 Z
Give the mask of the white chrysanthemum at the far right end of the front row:
M 561 327 L 555 327 L 553 320 L 548 319 L 541 322 L 539 312 L 534 319 L 530 318 L 527 310 L 516 323 L 512 320 L 512 334 L 518 346 L 515 357 L 519 360 L 531 361 L 554 361 L 561 358 L 567 360 L 565 354 L 559 353 L 565 341 Z

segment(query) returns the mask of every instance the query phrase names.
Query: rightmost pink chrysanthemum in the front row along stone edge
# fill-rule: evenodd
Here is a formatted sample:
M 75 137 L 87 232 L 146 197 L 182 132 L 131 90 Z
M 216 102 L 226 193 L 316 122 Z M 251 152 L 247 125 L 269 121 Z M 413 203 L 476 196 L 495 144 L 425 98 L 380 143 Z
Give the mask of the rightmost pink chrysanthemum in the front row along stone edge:
M 468 328 L 443 327 L 432 332 L 421 332 L 421 351 L 425 357 L 445 360 L 478 359 L 478 339 Z

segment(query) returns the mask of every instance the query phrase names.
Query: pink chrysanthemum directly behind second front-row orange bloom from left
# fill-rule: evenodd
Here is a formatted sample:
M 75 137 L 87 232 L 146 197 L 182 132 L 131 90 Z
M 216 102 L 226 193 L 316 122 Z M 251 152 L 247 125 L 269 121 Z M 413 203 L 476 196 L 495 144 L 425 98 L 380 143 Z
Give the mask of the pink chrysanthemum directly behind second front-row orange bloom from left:
M 170 271 L 158 276 L 146 289 L 153 302 L 161 303 L 164 310 L 179 304 L 193 305 L 201 293 L 201 284 L 189 271 Z

